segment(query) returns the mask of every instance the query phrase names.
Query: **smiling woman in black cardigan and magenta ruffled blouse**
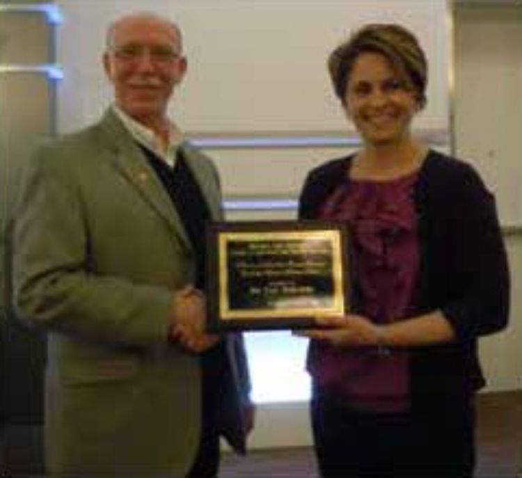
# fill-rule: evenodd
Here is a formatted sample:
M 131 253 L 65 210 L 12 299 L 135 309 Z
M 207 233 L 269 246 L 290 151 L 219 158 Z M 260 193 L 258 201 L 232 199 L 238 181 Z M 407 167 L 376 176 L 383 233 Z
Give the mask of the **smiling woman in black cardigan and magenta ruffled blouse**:
M 427 63 L 415 36 L 370 24 L 329 58 L 361 150 L 319 166 L 299 217 L 351 233 L 351 310 L 310 337 L 311 417 L 323 477 L 473 476 L 477 337 L 507 324 L 494 200 L 468 164 L 411 134 Z

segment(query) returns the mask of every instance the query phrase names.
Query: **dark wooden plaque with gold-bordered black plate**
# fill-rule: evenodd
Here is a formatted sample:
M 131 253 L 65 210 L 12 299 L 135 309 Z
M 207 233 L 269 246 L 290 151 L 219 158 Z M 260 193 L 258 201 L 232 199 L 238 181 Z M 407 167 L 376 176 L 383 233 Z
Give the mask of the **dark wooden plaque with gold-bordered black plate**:
M 207 230 L 210 332 L 313 326 L 349 309 L 348 234 L 324 221 L 212 223 Z

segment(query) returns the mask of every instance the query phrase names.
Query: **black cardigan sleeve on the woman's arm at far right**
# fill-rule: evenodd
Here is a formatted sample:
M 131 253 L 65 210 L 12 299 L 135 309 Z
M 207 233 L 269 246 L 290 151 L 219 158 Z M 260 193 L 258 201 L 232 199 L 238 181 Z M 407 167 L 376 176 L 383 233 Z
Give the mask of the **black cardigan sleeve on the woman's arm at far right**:
M 466 342 L 507 325 L 509 270 L 493 195 L 470 166 L 454 180 L 445 212 L 449 300 L 441 309 Z

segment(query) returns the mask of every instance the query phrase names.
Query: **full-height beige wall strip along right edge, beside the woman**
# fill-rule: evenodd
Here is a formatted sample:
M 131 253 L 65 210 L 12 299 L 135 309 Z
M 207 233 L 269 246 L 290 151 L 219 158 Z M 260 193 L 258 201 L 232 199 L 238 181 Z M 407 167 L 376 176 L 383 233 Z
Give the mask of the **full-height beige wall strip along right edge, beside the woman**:
M 512 273 L 511 324 L 481 341 L 488 390 L 522 389 L 522 5 L 459 6 L 454 133 L 495 193 Z

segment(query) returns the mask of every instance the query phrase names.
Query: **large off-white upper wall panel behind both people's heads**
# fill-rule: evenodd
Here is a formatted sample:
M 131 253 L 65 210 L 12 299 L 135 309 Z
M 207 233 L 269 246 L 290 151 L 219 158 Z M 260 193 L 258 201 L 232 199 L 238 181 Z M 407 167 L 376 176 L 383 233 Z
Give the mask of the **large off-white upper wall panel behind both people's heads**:
M 150 9 L 182 26 L 189 70 L 173 115 L 189 132 L 315 132 L 345 129 L 331 95 L 326 56 L 367 21 L 416 31 L 429 61 L 429 106 L 422 127 L 448 127 L 445 0 L 61 0 L 58 61 L 65 68 L 60 129 L 95 120 L 109 88 L 100 65 L 106 26 Z

